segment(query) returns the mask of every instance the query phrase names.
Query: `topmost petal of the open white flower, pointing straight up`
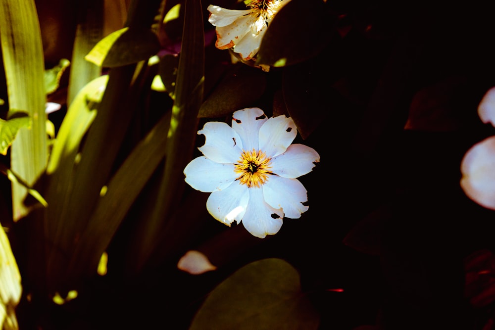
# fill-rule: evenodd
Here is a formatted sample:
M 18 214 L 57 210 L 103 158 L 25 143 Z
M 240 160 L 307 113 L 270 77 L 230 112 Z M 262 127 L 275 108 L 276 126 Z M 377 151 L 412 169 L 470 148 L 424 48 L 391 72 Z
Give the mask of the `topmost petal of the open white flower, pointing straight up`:
M 239 134 L 244 150 L 258 150 L 259 128 L 267 121 L 260 108 L 246 108 L 232 114 L 232 128 Z

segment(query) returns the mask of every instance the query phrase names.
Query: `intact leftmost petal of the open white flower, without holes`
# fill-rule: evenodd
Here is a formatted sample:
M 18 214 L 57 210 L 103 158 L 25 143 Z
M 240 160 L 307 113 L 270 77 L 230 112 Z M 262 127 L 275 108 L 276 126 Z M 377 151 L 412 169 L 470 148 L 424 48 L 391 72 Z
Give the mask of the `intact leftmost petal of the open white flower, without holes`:
M 216 163 L 206 157 L 193 159 L 184 169 L 189 186 L 203 192 L 223 190 L 237 178 L 234 164 Z

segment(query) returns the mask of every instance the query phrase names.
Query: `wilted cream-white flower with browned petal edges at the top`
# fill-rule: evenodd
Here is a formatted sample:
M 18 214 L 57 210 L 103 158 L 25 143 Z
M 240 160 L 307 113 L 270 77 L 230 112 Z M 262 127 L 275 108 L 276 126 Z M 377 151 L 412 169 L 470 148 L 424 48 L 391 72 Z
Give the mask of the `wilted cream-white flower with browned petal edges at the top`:
M 216 26 L 219 49 L 233 48 L 247 61 L 258 52 L 261 39 L 275 14 L 290 0 L 252 0 L 247 10 L 209 5 L 208 22 Z

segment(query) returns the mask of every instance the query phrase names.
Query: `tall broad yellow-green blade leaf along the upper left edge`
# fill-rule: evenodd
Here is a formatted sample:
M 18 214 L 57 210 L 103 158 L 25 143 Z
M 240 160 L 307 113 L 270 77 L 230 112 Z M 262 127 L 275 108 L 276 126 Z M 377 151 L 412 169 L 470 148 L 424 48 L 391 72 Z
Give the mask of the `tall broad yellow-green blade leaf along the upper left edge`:
M 32 120 L 31 129 L 19 130 L 12 143 L 11 168 L 33 186 L 48 161 L 45 65 L 34 0 L 0 0 L 0 40 L 9 107 L 26 111 Z M 23 203 L 27 193 L 12 184 L 14 221 L 28 213 Z

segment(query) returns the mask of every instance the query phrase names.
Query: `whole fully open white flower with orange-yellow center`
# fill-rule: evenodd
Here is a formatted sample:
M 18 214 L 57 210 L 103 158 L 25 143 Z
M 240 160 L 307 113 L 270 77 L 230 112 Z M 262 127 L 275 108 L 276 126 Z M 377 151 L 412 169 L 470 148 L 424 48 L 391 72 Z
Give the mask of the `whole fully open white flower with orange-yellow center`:
M 203 153 L 184 169 L 194 189 L 211 192 L 206 208 L 230 226 L 242 221 L 253 236 L 276 234 L 285 217 L 297 219 L 307 211 L 307 191 L 296 179 L 309 173 L 320 156 L 303 144 L 290 117 L 267 118 L 259 108 L 234 112 L 232 127 L 208 122 Z

